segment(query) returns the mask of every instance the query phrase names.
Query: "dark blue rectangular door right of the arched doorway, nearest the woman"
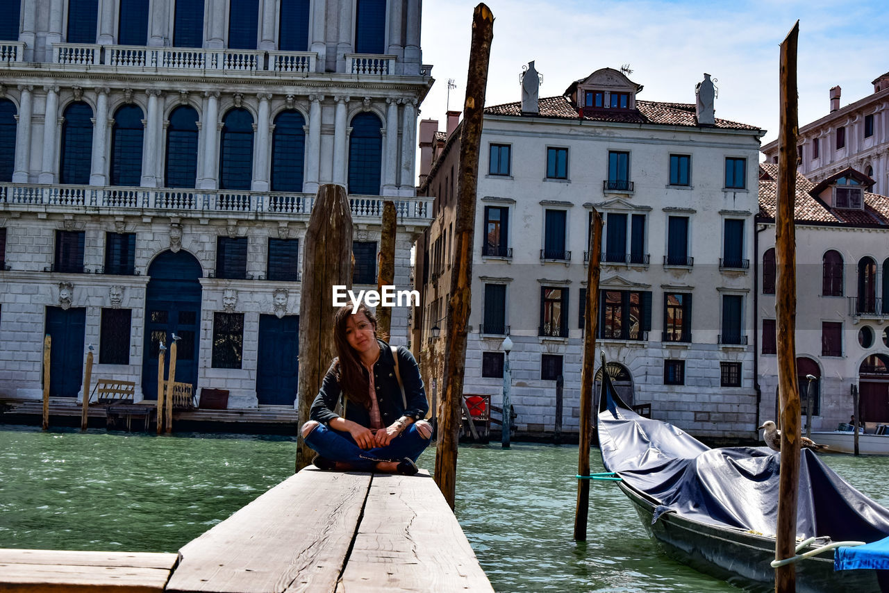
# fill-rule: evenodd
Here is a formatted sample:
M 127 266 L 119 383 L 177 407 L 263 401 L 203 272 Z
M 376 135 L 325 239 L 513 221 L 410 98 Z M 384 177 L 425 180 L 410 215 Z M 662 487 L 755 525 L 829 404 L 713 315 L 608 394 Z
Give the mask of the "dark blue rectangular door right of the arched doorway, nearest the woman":
M 260 405 L 293 405 L 299 383 L 300 316 L 260 315 L 256 397 Z

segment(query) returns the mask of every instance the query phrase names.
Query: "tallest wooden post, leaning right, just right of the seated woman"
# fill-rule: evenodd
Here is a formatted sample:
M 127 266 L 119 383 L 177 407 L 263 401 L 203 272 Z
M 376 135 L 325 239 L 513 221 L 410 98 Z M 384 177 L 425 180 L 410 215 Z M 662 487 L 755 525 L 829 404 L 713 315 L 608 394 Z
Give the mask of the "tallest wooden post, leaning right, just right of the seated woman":
M 453 236 L 451 299 L 448 301 L 445 337 L 445 385 L 441 415 L 438 418 L 436 484 L 453 509 L 457 490 L 457 445 L 460 431 L 460 398 L 466 364 L 466 325 L 469 323 L 472 284 L 472 245 L 476 222 L 478 151 L 482 140 L 485 87 L 493 40 L 494 15 L 478 4 L 472 15 L 472 44 L 469 47 L 469 74 L 463 103 L 460 133 L 460 183 L 457 186 L 457 212 Z M 509 414 L 509 411 L 505 411 Z

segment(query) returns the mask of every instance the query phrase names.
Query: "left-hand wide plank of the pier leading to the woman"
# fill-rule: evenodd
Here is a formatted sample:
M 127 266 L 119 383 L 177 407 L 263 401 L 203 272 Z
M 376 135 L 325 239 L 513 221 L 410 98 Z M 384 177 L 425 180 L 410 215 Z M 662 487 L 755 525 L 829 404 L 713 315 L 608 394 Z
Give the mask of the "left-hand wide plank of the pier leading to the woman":
M 332 591 L 371 474 L 308 467 L 180 549 L 168 590 Z

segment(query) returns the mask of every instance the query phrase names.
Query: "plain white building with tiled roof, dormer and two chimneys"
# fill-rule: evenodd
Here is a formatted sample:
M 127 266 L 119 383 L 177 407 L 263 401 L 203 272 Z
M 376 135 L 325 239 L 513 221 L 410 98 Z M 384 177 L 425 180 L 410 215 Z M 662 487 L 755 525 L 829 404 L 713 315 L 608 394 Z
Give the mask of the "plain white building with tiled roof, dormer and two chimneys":
M 605 221 L 597 348 L 617 389 L 695 435 L 752 437 L 750 264 L 764 132 L 715 119 L 705 97 L 696 108 L 637 100 L 641 91 L 602 68 L 562 96 L 535 97 L 537 105 L 485 108 L 465 391 L 499 405 L 509 334 L 518 429 L 554 429 L 560 375 L 563 428 L 578 429 L 595 208 Z M 455 192 L 438 183 L 453 180 L 456 140 L 447 140 L 420 188 L 437 196 L 426 237 L 423 341 L 446 323 L 449 289 L 436 272 L 449 276 L 440 261 L 453 252 L 455 200 L 445 196 Z

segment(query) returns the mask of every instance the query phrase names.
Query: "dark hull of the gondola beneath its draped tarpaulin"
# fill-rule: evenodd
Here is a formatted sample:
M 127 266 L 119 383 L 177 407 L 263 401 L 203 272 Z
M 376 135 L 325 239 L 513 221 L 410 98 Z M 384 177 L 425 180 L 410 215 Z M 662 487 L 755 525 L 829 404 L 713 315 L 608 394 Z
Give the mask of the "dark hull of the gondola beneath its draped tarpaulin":
M 774 590 L 774 569 L 769 564 L 774 559 L 773 538 L 691 521 L 670 512 L 652 524 L 655 505 L 629 485 L 618 485 L 633 503 L 645 531 L 669 557 L 748 591 Z M 889 571 L 834 571 L 833 564 L 832 550 L 797 562 L 797 592 L 889 592 Z

